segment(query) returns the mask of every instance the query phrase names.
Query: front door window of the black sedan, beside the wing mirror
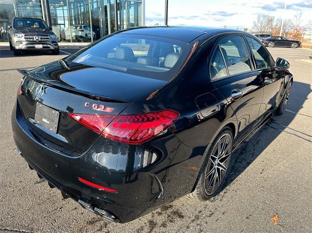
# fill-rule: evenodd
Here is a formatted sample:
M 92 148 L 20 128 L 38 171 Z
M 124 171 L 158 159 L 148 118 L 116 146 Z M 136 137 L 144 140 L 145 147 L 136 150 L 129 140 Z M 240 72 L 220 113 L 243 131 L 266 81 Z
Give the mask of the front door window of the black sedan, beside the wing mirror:
M 247 37 L 247 42 L 253 51 L 257 70 L 272 67 L 270 54 L 263 45 L 251 37 Z

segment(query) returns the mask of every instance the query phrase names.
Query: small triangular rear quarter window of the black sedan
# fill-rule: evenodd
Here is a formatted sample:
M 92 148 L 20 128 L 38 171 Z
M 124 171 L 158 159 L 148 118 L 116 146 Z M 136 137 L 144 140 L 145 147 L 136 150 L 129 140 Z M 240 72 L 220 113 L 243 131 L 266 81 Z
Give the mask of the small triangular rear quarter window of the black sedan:
M 219 48 L 215 50 L 215 54 L 210 63 L 210 76 L 212 80 L 228 76 L 225 63 Z

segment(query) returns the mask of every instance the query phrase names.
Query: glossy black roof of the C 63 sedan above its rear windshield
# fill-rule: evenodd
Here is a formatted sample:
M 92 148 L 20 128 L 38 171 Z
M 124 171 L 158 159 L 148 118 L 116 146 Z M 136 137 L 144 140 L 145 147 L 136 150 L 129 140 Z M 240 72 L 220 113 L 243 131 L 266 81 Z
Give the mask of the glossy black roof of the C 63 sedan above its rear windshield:
M 198 36 L 201 36 L 207 32 L 215 30 L 222 30 L 222 28 L 199 27 L 199 26 L 149 26 L 149 27 L 133 27 L 122 30 L 118 33 L 161 36 L 182 40 L 188 43 L 197 38 Z

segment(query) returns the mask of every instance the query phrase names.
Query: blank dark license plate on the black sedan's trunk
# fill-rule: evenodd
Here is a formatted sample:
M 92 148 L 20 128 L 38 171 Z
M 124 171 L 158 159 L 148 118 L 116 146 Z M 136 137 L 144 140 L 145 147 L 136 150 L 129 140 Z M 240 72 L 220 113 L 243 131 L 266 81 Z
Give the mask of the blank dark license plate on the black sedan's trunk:
M 57 133 L 59 124 L 59 111 L 43 104 L 36 104 L 35 123 Z

